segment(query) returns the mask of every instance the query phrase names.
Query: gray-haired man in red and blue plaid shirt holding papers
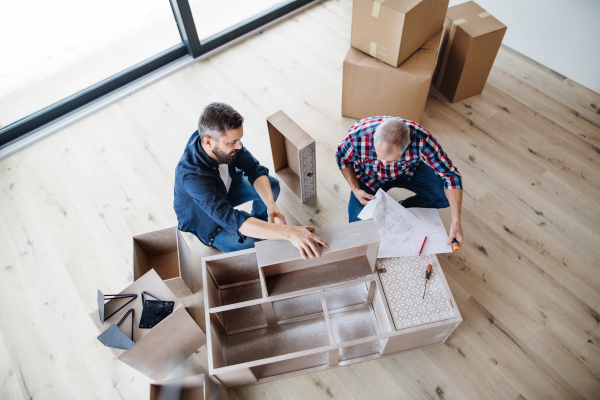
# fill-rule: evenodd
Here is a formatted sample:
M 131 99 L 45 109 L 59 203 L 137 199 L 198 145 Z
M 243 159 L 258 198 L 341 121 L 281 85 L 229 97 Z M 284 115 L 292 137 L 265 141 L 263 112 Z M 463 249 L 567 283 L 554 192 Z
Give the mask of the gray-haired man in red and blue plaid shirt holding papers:
M 400 201 L 406 208 L 446 208 L 452 224 L 448 245 L 462 245 L 462 178 L 436 139 L 416 122 L 395 117 L 361 119 L 338 145 L 338 167 L 352 193 L 350 222 L 375 198 L 378 189 L 404 188 L 415 193 Z

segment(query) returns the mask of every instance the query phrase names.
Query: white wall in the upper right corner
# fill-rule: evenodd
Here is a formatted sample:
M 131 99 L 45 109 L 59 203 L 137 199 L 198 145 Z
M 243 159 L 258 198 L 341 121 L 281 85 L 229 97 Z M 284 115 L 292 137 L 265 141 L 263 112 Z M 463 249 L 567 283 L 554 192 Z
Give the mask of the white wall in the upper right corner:
M 503 44 L 600 93 L 600 0 L 475 2 L 508 27 Z

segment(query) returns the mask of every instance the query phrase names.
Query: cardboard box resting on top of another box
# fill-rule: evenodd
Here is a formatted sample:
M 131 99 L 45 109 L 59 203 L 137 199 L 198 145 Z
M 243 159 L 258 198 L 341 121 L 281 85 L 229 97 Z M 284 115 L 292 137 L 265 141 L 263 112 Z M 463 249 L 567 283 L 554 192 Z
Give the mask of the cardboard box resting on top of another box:
M 397 67 L 442 29 L 449 0 L 354 0 L 350 45 Z

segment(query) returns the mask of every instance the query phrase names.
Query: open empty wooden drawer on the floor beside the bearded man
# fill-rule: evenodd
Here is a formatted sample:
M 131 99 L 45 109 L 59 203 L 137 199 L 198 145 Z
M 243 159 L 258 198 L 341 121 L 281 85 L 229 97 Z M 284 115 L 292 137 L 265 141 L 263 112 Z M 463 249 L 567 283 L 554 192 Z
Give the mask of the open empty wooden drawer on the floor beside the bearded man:
M 175 296 L 194 293 L 187 244 L 176 227 L 133 237 L 133 280 L 154 269 Z

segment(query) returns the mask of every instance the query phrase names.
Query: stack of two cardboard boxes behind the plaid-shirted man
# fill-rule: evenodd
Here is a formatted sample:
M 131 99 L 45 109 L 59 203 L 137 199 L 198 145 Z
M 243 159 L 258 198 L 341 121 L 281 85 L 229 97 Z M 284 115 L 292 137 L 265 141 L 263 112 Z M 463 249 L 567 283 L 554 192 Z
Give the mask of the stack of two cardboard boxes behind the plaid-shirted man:
M 420 122 L 448 2 L 354 0 L 342 115 L 393 115 Z

